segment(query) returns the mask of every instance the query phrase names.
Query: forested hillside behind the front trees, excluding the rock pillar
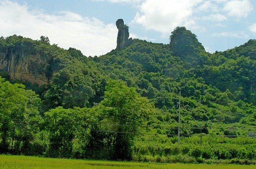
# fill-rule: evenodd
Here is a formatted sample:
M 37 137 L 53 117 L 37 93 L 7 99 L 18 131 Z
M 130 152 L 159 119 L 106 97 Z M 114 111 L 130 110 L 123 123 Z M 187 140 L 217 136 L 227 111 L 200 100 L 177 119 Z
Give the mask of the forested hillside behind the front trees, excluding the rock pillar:
M 45 111 L 57 106 L 91 107 L 103 99 L 108 79 L 116 79 L 170 114 L 175 114 L 181 91 L 182 104 L 191 110 L 184 113 L 196 111 L 188 121 L 240 122 L 240 115 L 214 111 L 215 104 L 238 114 L 245 113 L 241 105 L 256 104 L 255 57 L 256 40 L 207 53 L 185 27 L 174 29 L 170 44 L 133 39 L 122 50 L 89 58 L 80 50 L 50 45 L 46 37 L 13 35 L 0 40 L 1 76 L 35 90 Z

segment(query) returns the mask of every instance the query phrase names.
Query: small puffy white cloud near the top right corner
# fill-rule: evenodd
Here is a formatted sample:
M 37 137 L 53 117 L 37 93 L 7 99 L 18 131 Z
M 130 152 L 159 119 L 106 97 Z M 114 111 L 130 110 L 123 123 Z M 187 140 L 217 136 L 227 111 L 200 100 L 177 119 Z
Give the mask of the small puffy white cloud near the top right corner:
M 253 5 L 250 0 L 230 0 L 224 5 L 224 11 L 229 16 L 234 16 L 238 19 L 245 18 L 251 11 L 253 11 Z

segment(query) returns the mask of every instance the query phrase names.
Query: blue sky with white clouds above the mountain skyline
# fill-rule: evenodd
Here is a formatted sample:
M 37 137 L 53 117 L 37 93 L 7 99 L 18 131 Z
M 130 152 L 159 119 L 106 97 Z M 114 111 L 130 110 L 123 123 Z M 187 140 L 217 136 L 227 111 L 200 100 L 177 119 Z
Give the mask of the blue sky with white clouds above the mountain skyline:
M 100 56 L 116 48 L 123 18 L 130 37 L 169 43 L 177 26 L 208 52 L 256 39 L 256 0 L 0 0 L 0 36 L 14 34 Z

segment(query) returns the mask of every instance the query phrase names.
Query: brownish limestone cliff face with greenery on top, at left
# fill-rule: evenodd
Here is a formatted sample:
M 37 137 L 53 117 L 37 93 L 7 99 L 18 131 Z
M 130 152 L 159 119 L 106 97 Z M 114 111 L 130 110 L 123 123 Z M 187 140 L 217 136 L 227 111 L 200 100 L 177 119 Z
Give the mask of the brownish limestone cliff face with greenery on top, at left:
M 49 58 L 36 51 L 36 41 L 21 36 L 0 40 L 0 70 L 9 74 L 10 79 L 46 85 L 49 77 Z

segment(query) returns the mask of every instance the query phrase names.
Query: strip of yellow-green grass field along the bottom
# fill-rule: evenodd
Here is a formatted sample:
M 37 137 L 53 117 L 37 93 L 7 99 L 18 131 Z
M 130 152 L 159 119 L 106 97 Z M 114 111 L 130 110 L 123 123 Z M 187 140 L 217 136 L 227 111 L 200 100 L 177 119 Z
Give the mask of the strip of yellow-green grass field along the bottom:
M 255 165 L 158 164 L 0 155 L 0 169 L 255 169 Z

